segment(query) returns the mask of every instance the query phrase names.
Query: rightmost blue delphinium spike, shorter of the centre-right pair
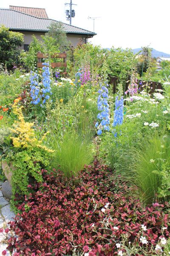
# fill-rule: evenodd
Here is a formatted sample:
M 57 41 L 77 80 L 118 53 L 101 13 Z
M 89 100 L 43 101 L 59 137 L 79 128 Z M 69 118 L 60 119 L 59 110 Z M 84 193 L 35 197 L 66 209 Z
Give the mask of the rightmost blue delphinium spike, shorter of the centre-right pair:
M 120 98 L 120 100 L 118 99 L 118 96 L 116 96 L 113 127 L 115 127 L 116 125 L 122 125 L 122 123 L 123 123 L 123 96 Z M 117 137 L 117 132 L 115 132 L 114 137 Z

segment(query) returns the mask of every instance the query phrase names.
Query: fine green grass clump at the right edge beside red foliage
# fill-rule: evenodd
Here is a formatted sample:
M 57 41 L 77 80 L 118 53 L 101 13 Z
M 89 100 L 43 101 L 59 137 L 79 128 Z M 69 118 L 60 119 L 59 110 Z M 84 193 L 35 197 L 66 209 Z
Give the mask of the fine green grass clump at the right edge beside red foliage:
M 142 200 L 170 200 L 170 137 L 153 137 L 136 151 L 132 177 Z M 134 176 L 133 176 L 134 175 Z

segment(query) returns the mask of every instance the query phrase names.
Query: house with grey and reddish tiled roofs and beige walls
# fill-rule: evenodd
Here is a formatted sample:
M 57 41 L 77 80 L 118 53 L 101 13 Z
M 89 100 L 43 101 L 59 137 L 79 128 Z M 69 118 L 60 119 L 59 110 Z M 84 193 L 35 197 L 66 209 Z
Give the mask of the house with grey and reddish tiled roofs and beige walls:
M 9 30 L 24 34 L 24 45 L 22 49 L 27 50 L 32 41 L 32 35 L 41 40 L 41 35 L 45 35 L 49 30 L 51 22 L 58 22 L 48 18 L 45 9 L 29 8 L 20 6 L 10 6 L 9 9 L 0 9 L 0 25 L 4 25 Z M 79 41 L 86 44 L 88 38 L 92 38 L 96 33 L 81 29 L 76 26 L 62 23 L 67 34 L 68 41 L 76 46 Z

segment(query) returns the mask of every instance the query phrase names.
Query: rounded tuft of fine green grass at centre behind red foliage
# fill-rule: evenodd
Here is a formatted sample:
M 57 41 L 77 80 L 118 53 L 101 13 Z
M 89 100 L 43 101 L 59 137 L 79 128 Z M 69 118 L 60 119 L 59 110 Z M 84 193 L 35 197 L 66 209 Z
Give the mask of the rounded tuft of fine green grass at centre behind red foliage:
M 74 177 L 84 168 L 85 164 L 91 163 L 93 154 L 90 148 L 90 141 L 87 137 L 81 137 L 72 132 L 66 132 L 61 141 L 54 142 L 53 168 L 57 168 L 66 177 Z

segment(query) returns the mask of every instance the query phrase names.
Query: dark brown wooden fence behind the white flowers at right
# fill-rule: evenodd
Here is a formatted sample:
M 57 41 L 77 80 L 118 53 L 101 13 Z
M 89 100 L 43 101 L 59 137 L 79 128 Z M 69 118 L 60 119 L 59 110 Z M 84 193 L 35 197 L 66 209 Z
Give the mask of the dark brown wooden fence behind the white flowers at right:
M 148 87 L 150 88 L 150 89 L 147 88 L 149 93 L 154 93 L 156 89 L 163 89 L 162 84 L 159 83 L 159 82 L 142 81 L 142 85 L 140 85 L 139 84 L 140 81 L 141 80 L 137 80 L 138 88 L 143 90 L 145 88 L 146 84 L 147 84 Z M 119 78 L 115 77 L 115 76 L 110 77 L 110 82 L 109 83 L 113 85 L 113 93 L 116 93 L 116 88 L 117 88 L 117 85 L 119 84 Z M 128 89 L 129 84 L 130 84 L 130 78 L 128 79 L 128 81 L 125 84 L 124 92 Z

